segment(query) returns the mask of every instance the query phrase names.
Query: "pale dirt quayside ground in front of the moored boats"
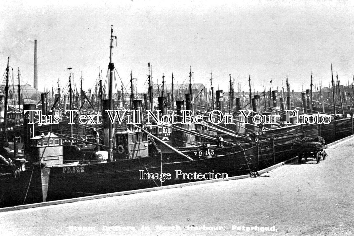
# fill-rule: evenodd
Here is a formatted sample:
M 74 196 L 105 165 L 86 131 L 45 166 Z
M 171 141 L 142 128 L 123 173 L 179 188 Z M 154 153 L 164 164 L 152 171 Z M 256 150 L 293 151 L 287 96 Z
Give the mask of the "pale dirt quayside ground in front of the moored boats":
M 0 235 L 352 235 L 354 140 L 326 151 L 269 177 L 1 213 Z

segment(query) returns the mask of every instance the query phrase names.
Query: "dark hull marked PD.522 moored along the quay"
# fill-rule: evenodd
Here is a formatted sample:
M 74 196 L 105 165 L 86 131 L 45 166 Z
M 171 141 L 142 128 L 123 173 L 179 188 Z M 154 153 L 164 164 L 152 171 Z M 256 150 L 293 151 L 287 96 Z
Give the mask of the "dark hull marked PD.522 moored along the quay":
M 149 183 L 139 180 L 139 170 L 155 166 L 161 166 L 160 156 L 92 165 L 52 167 L 47 199 L 53 201 L 149 188 Z M 79 168 L 79 172 L 76 168 Z

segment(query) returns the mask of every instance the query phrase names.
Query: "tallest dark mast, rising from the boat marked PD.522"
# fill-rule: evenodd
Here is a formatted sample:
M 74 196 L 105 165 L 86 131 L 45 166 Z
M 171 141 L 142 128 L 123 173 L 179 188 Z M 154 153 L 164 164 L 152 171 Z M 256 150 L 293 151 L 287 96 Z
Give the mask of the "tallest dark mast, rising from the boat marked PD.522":
M 111 36 L 110 36 L 110 46 L 109 46 L 109 92 L 108 92 L 108 99 L 109 99 L 109 109 L 113 110 L 113 70 L 114 64 L 112 62 L 112 48 L 113 48 L 113 39 L 117 38 L 117 36 L 113 36 L 113 25 L 111 28 Z M 112 122 L 108 122 L 108 161 L 113 160 L 113 124 Z

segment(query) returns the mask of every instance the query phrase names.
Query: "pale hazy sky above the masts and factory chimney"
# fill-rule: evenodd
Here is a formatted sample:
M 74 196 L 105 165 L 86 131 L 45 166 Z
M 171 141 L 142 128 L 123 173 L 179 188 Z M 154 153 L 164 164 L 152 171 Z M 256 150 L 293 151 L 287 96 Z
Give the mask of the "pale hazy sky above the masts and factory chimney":
M 113 63 L 129 89 L 147 91 L 153 81 L 192 82 L 227 91 L 229 74 L 248 91 L 285 84 L 291 89 L 328 86 L 333 72 L 341 84 L 353 82 L 353 1 L 3 1 L 0 7 L 0 74 L 7 57 L 23 83 L 33 85 L 34 39 L 38 40 L 38 85 L 44 91 L 74 81 L 87 91 L 99 69 L 103 82 L 113 25 Z M 119 79 L 121 78 L 121 80 Z M 22 82 L 21 82 L 22 83 Z M 235 88 L 236 90 L 236 88 Z

